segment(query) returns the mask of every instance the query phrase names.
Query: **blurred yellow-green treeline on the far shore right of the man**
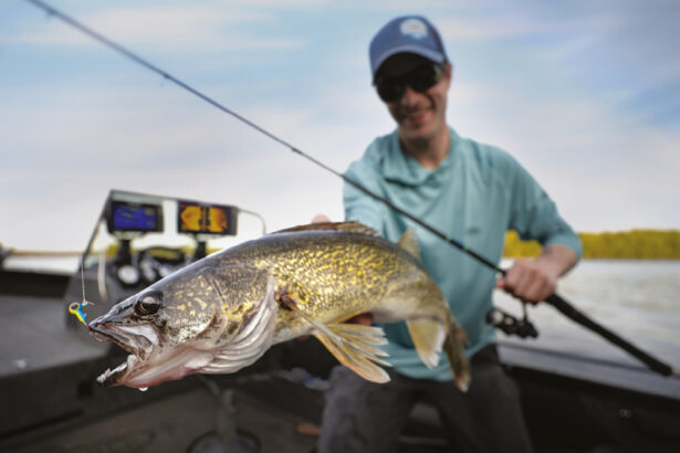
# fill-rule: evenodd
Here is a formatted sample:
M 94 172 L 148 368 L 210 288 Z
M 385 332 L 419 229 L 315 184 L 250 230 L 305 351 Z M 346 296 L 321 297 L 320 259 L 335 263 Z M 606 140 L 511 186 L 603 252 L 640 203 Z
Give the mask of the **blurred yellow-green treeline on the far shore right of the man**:
M 680 231 L 631 230 L 621 232 L 579 233 L 586 259 L 680 260 Z M 522 241 L 515 231 L 505 235 L 504 256 L 537 256 L 536 241 Z

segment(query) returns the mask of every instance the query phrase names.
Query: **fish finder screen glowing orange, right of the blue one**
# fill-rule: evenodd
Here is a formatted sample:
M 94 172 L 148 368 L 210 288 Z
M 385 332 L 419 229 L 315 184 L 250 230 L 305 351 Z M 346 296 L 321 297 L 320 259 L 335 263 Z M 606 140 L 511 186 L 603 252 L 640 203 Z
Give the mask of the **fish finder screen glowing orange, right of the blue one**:
M 237 233 L 237 210 L 233 207 L 180 201 L 177 211 L 177 227 L 180 233 L 219 235 Z

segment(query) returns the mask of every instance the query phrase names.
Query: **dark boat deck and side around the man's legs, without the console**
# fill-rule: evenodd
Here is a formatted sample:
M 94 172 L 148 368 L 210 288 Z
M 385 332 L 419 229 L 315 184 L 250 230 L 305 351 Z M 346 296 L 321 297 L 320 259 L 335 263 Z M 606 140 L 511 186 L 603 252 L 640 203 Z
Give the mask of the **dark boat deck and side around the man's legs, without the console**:
M 279 345 L 234 375 L 191 376 L 146 392 L 104 389 L 96 376 L 125 354 L 67 323 L 66 305 L 0 295 L 0 451 L 221 452 L 234 439 L 252 447 L 244 451 L 313 451 L 325 382 L 314 377 L 334 365 L 314 339 Z M 500 354 L 521 386 L 537 452 L 677 451 L 678 377 L 537 343 L 503 340 Z M 304 370 L 286 371 L 295 367 Z M 417 407 L 399 453 L 443 451 L 435 409 Z

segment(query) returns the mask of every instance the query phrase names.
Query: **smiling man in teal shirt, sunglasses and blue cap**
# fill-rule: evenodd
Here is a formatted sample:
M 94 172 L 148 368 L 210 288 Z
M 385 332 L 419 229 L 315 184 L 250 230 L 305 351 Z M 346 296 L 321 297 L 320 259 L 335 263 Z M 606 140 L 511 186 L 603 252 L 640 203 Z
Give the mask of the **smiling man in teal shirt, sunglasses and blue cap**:
M 509 229 L 538 240 L 543 253 L 515 261 L 496 282 L 493 272 L 470 256 L 345 186 L 348 220 L 368 224 L 391 241 L 408 227 L 415 229 L 423 266 L 467 331 L 472 382 L 461 392 L 444 356 L 437 368 L 426 368 L 405 324 L 386 325 L 391 381 L 376 384 L 336 367 L 318 450 L 394 452 L 412 404 L 426 399 L 438 408 L 454 451 L 529 452 L 519 391 L 500 366 L 494 329 L 484 319 L 494 286 L 531 303 L 551 295 L 580 255 L 578 238 L 512 157 L 462 138 L 447 125 L 452 66 L 427 19 L 388 22 L 373 39 L 369 57 L 374 85 L 397 129 L 375 139 L 346 175 L 492 262 L 500 261 Z

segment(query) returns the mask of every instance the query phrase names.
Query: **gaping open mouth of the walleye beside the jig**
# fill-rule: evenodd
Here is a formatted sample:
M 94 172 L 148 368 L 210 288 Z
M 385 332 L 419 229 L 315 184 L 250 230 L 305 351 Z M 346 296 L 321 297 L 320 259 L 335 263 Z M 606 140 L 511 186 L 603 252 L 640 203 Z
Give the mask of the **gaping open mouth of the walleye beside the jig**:
M 137 371 L 154 352 L 158 346 L 158 336 L 150 325 L 142 326 L 123 326 L 100 324 L 95 319 L 91 325 L 95 338 L 100 340 L 108 340 L 121 348 L 130 352 L 127 359 L 114 368 L 106 369 L 100 377 L 97 382 L 104 387 L 114 387 L 124 384 L 137 375 Z

